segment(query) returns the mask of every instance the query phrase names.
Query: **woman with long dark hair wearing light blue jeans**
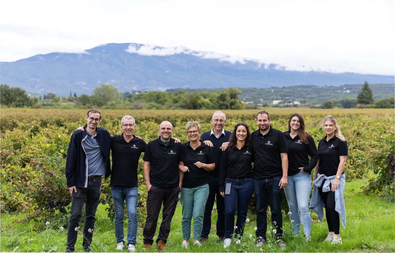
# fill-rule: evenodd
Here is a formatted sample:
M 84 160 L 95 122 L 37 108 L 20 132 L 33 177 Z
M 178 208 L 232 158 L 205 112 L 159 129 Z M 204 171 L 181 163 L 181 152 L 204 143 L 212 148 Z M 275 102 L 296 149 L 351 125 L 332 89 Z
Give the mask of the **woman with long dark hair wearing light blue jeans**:
M 291 115 L 284 136 L 288 145 L 288 185 L 284 192 L 291 212 L 291 223 L 295 234 L 301 232 L 302 223 L 305 238 L 310 240 L 311 216 L 308 200 L 311 191 L 310 174 L 318 161 L 316 143 L 306 132 L 305 121 L 299 113 Z M 311 158 L 310 162 L 308 156 Z

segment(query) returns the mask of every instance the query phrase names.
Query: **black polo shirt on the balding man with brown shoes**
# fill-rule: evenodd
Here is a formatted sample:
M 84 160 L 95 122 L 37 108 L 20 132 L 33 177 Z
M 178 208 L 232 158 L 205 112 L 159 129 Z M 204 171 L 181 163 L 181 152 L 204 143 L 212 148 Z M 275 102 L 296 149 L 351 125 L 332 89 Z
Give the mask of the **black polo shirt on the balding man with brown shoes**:
M 150 183 L 159 188 L 171 188 L 179 184 L 178 163 L 184 160 L 184 147 L 170 139 L 165 146 L 160 137 L 150 141 L 143 160 L 150 162 Z

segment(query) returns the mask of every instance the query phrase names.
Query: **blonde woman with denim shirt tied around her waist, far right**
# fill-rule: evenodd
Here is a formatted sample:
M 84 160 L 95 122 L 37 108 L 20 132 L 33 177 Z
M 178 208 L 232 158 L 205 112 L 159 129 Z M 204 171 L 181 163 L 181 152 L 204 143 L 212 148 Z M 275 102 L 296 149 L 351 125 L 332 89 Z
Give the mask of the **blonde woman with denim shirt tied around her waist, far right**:
M 324 218 L 321 202 L 325 205 L 325 216 L 328 225 L 326 242 L 342 244 L 340 238 L 340 221 L 346 227 L 346 208 L 344 205 L 344 165 L 348 155 L 347 142 L 340 131 L 335 117 L 324 118 L 326 136 L 318 143 L 318 164 L 314 168 L 313 194 L 310 208 L 317 213 L 320 221 Z M 340 220 L 339 220 L 340 215 Z

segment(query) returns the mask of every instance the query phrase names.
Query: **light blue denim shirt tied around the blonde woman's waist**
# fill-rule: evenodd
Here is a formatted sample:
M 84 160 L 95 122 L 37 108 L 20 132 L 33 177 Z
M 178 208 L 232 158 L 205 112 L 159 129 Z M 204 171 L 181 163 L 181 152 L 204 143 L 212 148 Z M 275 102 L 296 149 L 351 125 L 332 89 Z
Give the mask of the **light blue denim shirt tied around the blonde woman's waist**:
M 310 209 L 314 211 L 318 215 L 318 219 L 322 221 L 324 219 L 324 201 L 321 198 L 320 193 L 318 192 L 318 187 L 321 187 L 322 181 L 326 180 L 323 187 L 322 192 L 331 191 L 329 188 L 329 184 L 335 180 L 335 176 L 327 177 L 324 174 L 318 174 L 317 179 L 313 182 L 313 194 L 311 196 L 310 201 Z M 335 190 L 335 210 L 340 214 L 340 220 L 342 222 L 343 228 L 346 228 L 346 206 L 344 204 L 344 183 L 346 182 L 346 176 L 342 174 L 339 179 L 339 187 Z M 320 205 L 321 203 L 321 205 Z

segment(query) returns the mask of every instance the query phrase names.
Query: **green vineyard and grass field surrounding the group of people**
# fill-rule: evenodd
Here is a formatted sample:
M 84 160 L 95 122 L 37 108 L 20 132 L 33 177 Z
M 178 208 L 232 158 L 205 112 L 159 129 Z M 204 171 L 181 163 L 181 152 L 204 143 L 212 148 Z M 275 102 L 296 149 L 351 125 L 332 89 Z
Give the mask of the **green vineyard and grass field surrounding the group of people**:
M 56 251 L 66 249 L 68 222 L 68 188 L 64 177 L 64 165 L 70 135 L 78 126 L 86 124 L 87 110 L 55 109 L 8 109 L 1 108 L 1 243 L 0 251 Z M 332 114 L 336 117 L 348 142 L 348 160 L 345 167 L 345 201 L 347 227 L 340 228 L 343 245 L 324 244 L 326 222 L 318 222 L 312 215 L 312 241 L 306 244 L 300 236 L 293 236 L 290 221 L 284 211 L 284 240 L 288 247 L 284 252 L 394 252 L 395 251 L 395 206 L 393 196 L 384 198 L 380 191 L 363 193 L 368 180 L 377 175 L 380 167 L 393 154 L 394 110 L 393 109 L 275 109 L 271 108 L 272 125 L 286 130 L 288 118 L 293 112 L 301 113 L 307 131 L 316 144 L 324 137 L 322 119 Z M 224 111 L 227 116 L 226 129 L 231 130 L 237 122 L 246 122 L 252 130 L 257 126 L 254 118 L 258 110 Z M 102 110 L 100 126 L 110 134 L 120 134 L 120 119 L 132 115 L 136 119 L 135 134 L 146 141 L 158 137 L 158 123 L 169 120 L 175 126 L 173 136 L 186 141 L 187 121 L 197 120 L 204 131 L 211 128 L 211 110 Z M 392 148 L 392 151 L 391 151 Z M 389 151 L 388 151 L 389 150 Z M 392 152 L 392 153 L 391 153 Z M 139 163 L 142 174 L 142 159 Z M 139 175 L 139 230 L 137 251 L 142 246 L 142 227 L 145 221 L 145 185 Z M 94 245 L 97 251 L 115 250 L 114 225 L 111 217 L 111 194 L 109 179 L 102 185 L 102 198 L 96 214 Z M 387 185 L 393 195 L 393 182 Z M 392 187 L 392 190 L 390 190 Z M 285 201 L 285 199 L 284 199 Z M 60 203 L 52 208 L 49 202 Z M 202 247 L 181 248 L 181 205 L 177 206 L 172 221 L 172 230 L 166 252 L 222 252 L 222 244 L 215 238 L 216 213 L 213 213 L 213 229 L 209 241 Z M 254 227 L 256 219 L 248 214 L 250 222 L 245 229 L 243 243 L 229 247 L 230 252 L 278 252 L 282 251 L 271 241 L 265 247 L 256 248 Z M 45 225 L 46 221 L 51 227 Z M 270 222 L 269 222 L 270 224 Z M 126 225 L 126 223 L 125 223 Z M 80 225 L 80 228 L 83 224 Z M 252 234 L 252 239 L 250 239 Z M 76 251 L 82 250 L 82 236 Z M 268 238 L 270 235 L 268 234 Z M 192 245 L 192 244 L 191 244 Z M 154 250 L 152 250 L 154 251 Z

